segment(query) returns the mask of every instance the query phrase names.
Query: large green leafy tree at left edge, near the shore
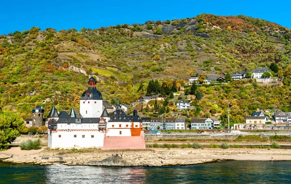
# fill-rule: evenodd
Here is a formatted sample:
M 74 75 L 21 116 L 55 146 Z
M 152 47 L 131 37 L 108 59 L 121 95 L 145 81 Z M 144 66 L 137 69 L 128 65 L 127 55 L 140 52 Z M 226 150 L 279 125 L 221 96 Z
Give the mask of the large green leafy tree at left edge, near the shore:
M 8 148 L 24 128 L 24 120 L 16 113 L 0 113 L 0 148 Z

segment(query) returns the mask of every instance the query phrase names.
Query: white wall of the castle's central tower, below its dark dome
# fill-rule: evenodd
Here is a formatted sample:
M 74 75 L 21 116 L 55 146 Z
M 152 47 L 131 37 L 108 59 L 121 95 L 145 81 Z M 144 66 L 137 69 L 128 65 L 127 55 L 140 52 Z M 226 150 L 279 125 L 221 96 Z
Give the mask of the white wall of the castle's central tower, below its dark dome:
M 102 100 L 81 99 L 80 113 L 83 117 L 100 117 L 102 114 Z

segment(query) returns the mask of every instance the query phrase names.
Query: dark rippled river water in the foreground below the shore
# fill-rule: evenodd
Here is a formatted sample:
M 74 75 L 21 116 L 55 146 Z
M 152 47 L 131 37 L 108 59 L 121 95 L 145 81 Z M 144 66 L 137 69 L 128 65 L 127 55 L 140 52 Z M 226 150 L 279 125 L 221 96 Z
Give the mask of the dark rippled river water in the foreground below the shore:
M 40 166 L 0 162 L 0 184 L 291 184 L 290 161 L 225 161 L 191 166 Z

